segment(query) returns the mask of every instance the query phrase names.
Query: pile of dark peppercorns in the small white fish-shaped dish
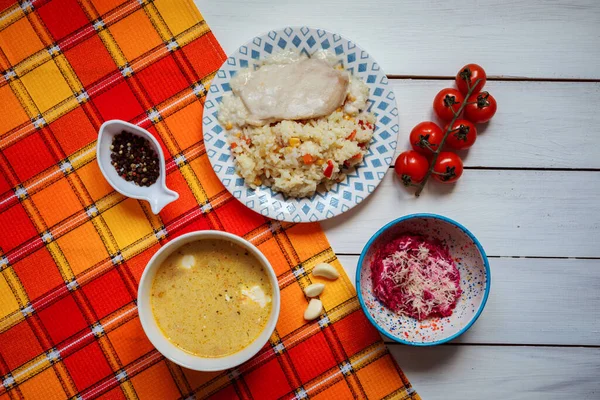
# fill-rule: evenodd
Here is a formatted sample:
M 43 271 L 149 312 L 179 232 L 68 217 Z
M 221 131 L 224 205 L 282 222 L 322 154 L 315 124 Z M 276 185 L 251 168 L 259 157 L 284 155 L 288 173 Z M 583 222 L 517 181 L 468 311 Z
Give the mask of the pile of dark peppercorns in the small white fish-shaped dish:
M 138 186 L 150 186 L 158 179 L 158 155 L 147 139 L 122 131 L 113 137 L 110 150 L 111 164 L 121 178 Z

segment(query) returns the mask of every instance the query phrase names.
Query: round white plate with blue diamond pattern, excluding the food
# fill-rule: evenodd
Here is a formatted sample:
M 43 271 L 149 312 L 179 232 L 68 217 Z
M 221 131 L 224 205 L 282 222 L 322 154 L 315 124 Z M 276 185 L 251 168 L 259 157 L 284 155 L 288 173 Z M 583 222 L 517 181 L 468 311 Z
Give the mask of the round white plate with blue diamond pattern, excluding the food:
M 329 191 L 317 192 L 312 197 L 287 197 L 267 186 L 256 190 L 247 186 L 244 179 L 235 172 L 225 128 L 217 119 L 223 94 L 231 90 L 231 77 L 238 70 L 256 66 L 260 60 L 284 49 L 298 49 L 307 55 L 320 49 L 328 49 L 336 54 L 347 71 L 358 75 L 369 86 L 369 111 L 377 118 L 369 152 L 363 162 L 347 174 L 344 182 L 334 185 Z M 203 128 L 204 144 L 213 169 L 236 199 L 269 218 L 313 222 L 346 212 L 373 193 L 394 157 L 399 129 L 398 108 L 385 73 L 354 42 L 322 29 L 288 27 L 255 37 L 223 63 L 210 85 L 204 103 Z

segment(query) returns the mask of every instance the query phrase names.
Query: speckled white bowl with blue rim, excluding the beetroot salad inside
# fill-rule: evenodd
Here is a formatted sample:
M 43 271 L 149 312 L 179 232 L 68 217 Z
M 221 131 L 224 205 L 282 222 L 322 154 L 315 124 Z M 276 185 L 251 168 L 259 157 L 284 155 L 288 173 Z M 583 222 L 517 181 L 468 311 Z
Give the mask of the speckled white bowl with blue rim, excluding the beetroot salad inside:
M 417 321 L 390 311 L 373 295 L 371 261 L 384 243 L 403 233 L 437 239 L 450 251 L 463 293 L 450 317 Z M 369 321 L 386 337 L 413 346 L 433 346 L 466 332 L 479 318 L 490 293 L 491 274 L 481 243 L 464 226 L 437 214 L 412 214 L 390 222 L 369 239 L 356 269 L 356 290 Z

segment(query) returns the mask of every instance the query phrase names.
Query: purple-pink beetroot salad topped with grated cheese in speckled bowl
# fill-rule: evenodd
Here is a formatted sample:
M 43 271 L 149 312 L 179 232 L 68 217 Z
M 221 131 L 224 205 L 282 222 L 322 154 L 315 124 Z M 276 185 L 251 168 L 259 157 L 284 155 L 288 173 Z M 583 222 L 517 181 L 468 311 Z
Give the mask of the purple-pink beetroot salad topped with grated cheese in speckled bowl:
M 371 263 L 375 297 L 390 310 L 421 321 L 448 317 L 462 290 L 448 249 L 404 234 L 382 246 Z

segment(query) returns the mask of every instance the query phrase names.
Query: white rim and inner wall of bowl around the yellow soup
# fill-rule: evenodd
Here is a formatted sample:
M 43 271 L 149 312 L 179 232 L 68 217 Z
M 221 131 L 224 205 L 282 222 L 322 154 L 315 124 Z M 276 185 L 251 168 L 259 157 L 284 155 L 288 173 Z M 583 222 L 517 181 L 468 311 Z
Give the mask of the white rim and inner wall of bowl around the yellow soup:
M 225 357 L 214 358 L 195 356 L 177 347 L 175 344 L 171 343 L 164 336 L 164 334 L 158 327 L 156 320 L 154 319 L 154 314 L 152 313 L 152 305 L 150 303 L 150 293 L 156 270 L 160 266 L 160 263 L 156 262 L 156 260 L 159 257 L 162 257 L 164 254 L 166 254 L 165 257 L 168 257 L 168 255 L 170 255 L 173 251 L 177 250 L 181 245 L 190 241 L 186 241 L 186 239 L 220 239 L 233 242 L 251 251 L 252 255 L 262 264 L 263 268 L 267 273 L 267 276 L 269 277 L 269 281 L 271 283 L 272 288 L 271 313 L 269 314 L 269 320 L 263 328 L 263 330 L 261 331 L 261 333 L 258 335 L 258 337 L 248 346 L 244 347 L 237 353 L 233 353 Z M 243 364 L 244 362 L 248 361 L 250 358 L 254 357 L 269 341 L 269 338 L 275 330 L 277 320 L 279 319 L 280 291 L 277 276 L 275 275 L 273 267 L 271 266 L 267 258 L 264 256 L 264 254 L 262 254 L 262 252 L 252 243 L 250 243 L 246 239 L 241 238 L 240 236 L 228 232 L 216 230 L 195 231 L 186 233 L 185 235 L 181 235 L 171 240 L 169 243 L 161 247 L 152 256 L 150 261 L 148 261 L 146 267 L 144 268 L 144 272 L 142 274 L 138 286 L 137 306 L 138 313 L 140 316 L 140 322 L 142 324 L 144 333 L 146 334 L 152 345 L 162 355 L 164 355 L 169 360 L 173 361 L 175 364 L 196 371 L 223 371 L 229 368 L 237 367 L 240 364 Z

